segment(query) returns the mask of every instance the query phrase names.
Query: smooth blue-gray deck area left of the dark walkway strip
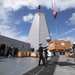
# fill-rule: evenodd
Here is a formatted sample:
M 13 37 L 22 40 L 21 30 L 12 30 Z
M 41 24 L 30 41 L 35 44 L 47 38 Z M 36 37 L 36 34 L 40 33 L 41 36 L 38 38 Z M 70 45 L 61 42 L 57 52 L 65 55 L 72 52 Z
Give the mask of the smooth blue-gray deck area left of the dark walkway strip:
M 38 65 L 38 58 L 0 59 L 0 75 L 22 75 Z

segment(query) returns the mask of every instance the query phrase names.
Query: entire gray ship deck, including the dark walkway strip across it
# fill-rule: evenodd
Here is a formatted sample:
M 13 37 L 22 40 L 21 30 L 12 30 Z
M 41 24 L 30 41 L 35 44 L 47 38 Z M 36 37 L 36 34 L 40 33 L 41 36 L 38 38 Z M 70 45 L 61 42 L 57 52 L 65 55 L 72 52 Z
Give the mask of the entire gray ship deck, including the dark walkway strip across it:
M 52 57 L 46 66 L 37 66 L 38 58 L 0 59 L 0 75 L 75 75 L 74 58 Z

